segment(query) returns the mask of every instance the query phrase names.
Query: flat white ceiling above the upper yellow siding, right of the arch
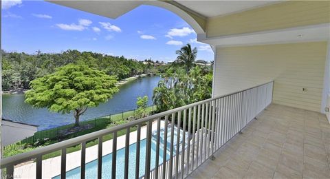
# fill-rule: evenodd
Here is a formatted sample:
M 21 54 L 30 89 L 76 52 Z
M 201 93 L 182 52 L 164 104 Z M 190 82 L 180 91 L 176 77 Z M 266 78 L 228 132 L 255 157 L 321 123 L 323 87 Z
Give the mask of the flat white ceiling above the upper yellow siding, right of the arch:
M 182 6 L 186 6 L 204 17 L 217 17 L 225 14 L 232 14 L 261 6 L 267 6 L 280 1 L 191 1 L 176 0 Z

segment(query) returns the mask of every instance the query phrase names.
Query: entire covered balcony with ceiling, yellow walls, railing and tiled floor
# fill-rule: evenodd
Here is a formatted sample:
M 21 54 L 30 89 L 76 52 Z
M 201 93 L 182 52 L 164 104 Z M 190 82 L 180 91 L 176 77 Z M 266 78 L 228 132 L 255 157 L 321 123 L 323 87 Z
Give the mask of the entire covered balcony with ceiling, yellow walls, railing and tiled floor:
M 215 97 L 3 158 L 3 178 L 330 178 L 329 1 L 50 1 L 175 12 L 212 45 Z

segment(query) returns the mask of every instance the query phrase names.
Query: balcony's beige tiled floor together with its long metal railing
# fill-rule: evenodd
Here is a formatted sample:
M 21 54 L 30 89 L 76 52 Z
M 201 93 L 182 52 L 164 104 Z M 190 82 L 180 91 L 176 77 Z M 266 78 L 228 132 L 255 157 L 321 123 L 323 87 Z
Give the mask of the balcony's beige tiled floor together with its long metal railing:
M 273 81 L 5 158 L 1 168 L 6 178 L 329 178 L 325 115 L 271 104 L 272 92 Z M 61 156 L 43 160 L 54 151 Z

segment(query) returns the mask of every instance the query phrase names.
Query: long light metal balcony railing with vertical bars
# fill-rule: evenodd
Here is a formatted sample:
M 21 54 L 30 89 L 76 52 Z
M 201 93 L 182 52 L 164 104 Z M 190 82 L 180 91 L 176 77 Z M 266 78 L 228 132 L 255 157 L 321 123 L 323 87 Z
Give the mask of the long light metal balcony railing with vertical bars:
M 124 178 L 130 178 L 129 174 L 132 174 L 129 173 L 129 167 L 131 167 L 129 166 L 129 160 L 131 160 L 129 158 L 130 129 L 137 127 L 133 178 L 186 178 L 199 165 L 212 158 L 215 151 L 220 149 L 265 107 L 272 103 L 273 84 L 274 82 L 271 81 L 239 92 L 171 109 L 124 125 L 78 136 L 24 154 L 3 158 L 1 169 L 5 169 L 5 178 L 14 178 L 14 166 L 33 159 L 36 162 L 36 178 L 42 178 L 43 155 L 61 150 L 61 178 L 65 178 L 67 172 L 66 162 L 70 162 L 66 160 L 67 147 L 81 145 L 80 178 L 85 178 L 86 143 L 98 139 L 98 157 L 96 159 L 98 170 L 95 178 L 102 178 L 102 138 L 111 134 L 113 136 L 111 178 L 116 178 L 118 171 L 122 171 L 116 169 L 118 131 L 126 130 L 124 173 L 122 175 Z M 160 140 L 161 122 L 165 123 L 164 140 L 162 141 Z M 170 130 L 167 127 L 169 123 L 173 122 L 177 124 L 176 136 L 174 135 L 175 127 L 170 127 Z M 156 141 L 152 140 L 153 123 L 157 123 Z M 145 156 L 140 152 L 141 129 L 144 126 L 146 126 Z M 180 129 L 182 129 L 182 133 L 180 133 Z M 180 135 L 184 136 L 181 140 Z M 166 136 L 169 136 L 169 138 Z M 177 145 L 174 148 L 175 141 Z M 155 149 L 151 148 L 152 143 L 155 143 Z M 151 152 L 152 150 L 154 151 Z M 155 154 L 153 160 L 151 160 L 152 153 Z M 159 160 L 159 156 L 162 157 L 162 161 Z M 142 157 L 146 160 L 144 166 L 140 166 Z M 151 169 L 152 162 L 155 164 L 153 169 Z M 140 169 L 143 169 L 141 167 L 144 167 L 144 173 L 139 173 Z M 24 178 L 24 176 L 21 177 Z

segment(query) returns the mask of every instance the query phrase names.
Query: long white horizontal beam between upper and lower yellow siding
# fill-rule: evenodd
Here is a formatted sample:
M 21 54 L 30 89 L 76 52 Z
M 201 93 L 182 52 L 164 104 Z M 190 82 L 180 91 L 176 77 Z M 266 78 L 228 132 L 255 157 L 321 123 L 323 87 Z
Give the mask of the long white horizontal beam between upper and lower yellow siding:
M 207 38 L 197 36 L 197 41 L 216 46 L 261 45 L 273 43 L 295 43 L 305 41 L 328 41 L 330 39 L 330 23 L 308 25 L 298 28 L 270 30 L 249 34 L 237 34 Z

